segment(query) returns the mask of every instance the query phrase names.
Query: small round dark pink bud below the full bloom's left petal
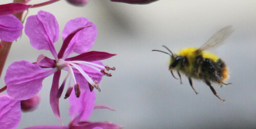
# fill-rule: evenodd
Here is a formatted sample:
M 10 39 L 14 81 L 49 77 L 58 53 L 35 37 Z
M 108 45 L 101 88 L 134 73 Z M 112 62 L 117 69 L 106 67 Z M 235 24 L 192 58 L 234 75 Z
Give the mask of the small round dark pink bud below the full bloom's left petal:
M 29 112 L 35 110 L 40 102 L 40 96 L 35 95 L 34 97 L 27 99 L 27 100 L 21 100 L 20 106 L 22 108 L 23 112 Z

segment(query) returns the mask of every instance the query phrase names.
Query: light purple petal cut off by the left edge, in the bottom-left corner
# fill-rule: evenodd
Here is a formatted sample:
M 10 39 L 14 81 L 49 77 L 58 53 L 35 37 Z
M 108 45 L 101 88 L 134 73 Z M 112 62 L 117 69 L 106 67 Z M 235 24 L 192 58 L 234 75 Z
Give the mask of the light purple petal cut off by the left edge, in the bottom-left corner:
M 20 101 L 0 95 L 0 128 L 13 129 L 19 125 L 22 112 Z

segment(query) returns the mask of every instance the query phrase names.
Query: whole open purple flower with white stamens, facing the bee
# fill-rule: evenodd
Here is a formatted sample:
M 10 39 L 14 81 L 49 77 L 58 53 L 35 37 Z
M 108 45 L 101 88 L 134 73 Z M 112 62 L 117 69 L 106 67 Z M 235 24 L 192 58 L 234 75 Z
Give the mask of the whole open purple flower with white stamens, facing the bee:
M 103 75 L 111 76 L 111 73 L 105 70 L 113 68 L 103 66 L 100 60 L 108 59 L 115 54 L 88 51 L 94 44 L 97 29 L 94 23 L 84 17 L 68 21 L 62 32 L 63 44 L 58 54 L 53 43 L 59 38 L 59 27 L 56 18 L 51 13 L 39 11 L 37 15 L 29 16 L 25 25 L 25 33 L 34 48 L 49 50 L 54 60 L 45 55 L 39 55 L 35 63 L 25 60 L 12 63 L 7 69 L 5 83 L 8 95 L 14 99 L 25 100 L 35 96 L 42 87 L 42 81 L 54 74 L 50 105 L 54 115 L 61 121 L 58 103 L 68 78 L 70 78 L 70 83 L 73 80 L 75 86 L 70 87 L 69 83 L 66 98 L 72 89 L 75 90 L 77 97 L 80 95 L 80 88 L 88 91 L 96 88 L 100 91 L 97 82 Z M 72 53 L 80 55 L 68 58 Z M 68 74 L 58 87 L 62 69 L 68 71 Z

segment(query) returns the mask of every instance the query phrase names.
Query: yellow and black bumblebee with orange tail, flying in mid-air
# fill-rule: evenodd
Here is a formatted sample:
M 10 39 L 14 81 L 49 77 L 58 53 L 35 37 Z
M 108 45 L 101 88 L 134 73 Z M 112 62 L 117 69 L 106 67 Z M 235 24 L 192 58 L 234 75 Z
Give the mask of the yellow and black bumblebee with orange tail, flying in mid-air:
M 177 78 L 174 76 L 173 70 L 177 71 L 181 84 L 182 80 L 180 72 L 187 76 L 189 84 L 196 94 L 198 94 L 198 92 L 194 89 L 191 79 L 202 80 L 210 87 L 215 96 L 217 96 L 220 100 L 225 101 L 217 95 L 217 92 L 215 91 L 214 87 L 211 86 L 211 83 L 217 83 L 219 85 L 231 84 L 225 83 L 225 80 L 227 80 L 229 76 L 228 68 L 219 57 L 214 54 L 207 53 L 205 50 L 220 45 L 227 37 L 231 35 L 232 32 L 233 30 L 231 26 L 225 27 L 212 36 L 200 48 L 185 48 L 180 50 L 178 54 L 173 54 L 172 51 L 170 51 L 170 49 L 164 45 L 163 47 L 166 48 L 169 53 L 162 50 L 152 51 L 160 51 L 170 56 L 169 71 L 172 73 L 175 79 Z

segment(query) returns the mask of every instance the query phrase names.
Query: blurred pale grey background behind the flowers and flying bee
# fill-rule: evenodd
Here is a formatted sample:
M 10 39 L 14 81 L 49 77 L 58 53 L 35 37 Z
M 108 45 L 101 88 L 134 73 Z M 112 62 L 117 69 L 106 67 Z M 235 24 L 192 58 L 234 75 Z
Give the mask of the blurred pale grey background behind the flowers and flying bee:
M 6 4 L 9 1 L 1 1 Z M 10 1 L 11 2 L 11 1 Z M 42 2 L 42 1 L 40 1 Z M 32 1 L 31 4 L 39 3 Z M 103 60 L 115 66 L 111 78 L 104 76 L 97 92 L 97 105 L 116 111 L 95 110 L 90 121 L 110 121 L 125 128 L 256 128 L 256 1 L 180 1 L 160 0 L 149 5 L 130 5 L 110 1 L 89 1 L 85 7 L 75 7 L 66 1 L 30 9 L 28 15 L 39 10 L 54 14 L 60 31 L 66 22 L 76 17 L 87 17 L 98 28 L 98 36 L 91 50 L 106 51 L 117 56 Z M 195 94 L 183 75 L 183 84 L 168 71 L 169 57 L 151 51 L 173 52 L 185 47 L 200 47 L 218 30 L 232 25 L 235 30 L 225 43 L 211 52 L 222 58 L 230 70 L 232 85 L 212 94 L 203 82 L 194 81 Z M 55 43 L 57 50 L 61 36 Z M 166 50 L 165 50 L 166 51 Z M 14 61 L 36 61 L 39 54 L 28 37 L 14 42 L 4 75 Z M 177 76 L 177 73 L 175 73 Z M 62 75 L 62 79 L 65 74 Z M 41 103 L 34 112 L 23 113 L 18 128 L 34 125 L 60 125 L 49 104 L 52 77 L 43 82 Z M 69 102 L 60 100 L 64 125 L 70 122 Z

